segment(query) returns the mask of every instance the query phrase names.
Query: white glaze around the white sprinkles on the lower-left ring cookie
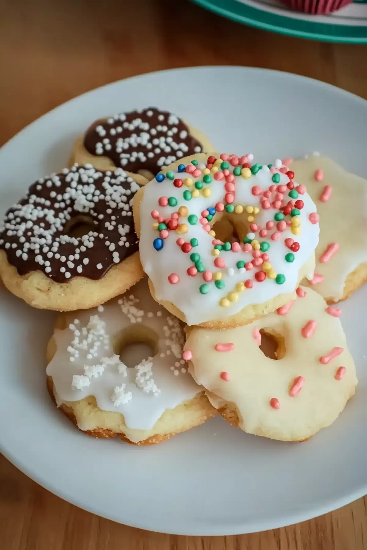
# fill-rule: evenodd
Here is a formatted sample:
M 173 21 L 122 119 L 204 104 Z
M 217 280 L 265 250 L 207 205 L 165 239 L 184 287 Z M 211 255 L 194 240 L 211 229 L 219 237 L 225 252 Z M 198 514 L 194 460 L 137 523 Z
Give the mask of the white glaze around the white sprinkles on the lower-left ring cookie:
M 184 401 L 194 398 L 201 391 L 201 388 L 198 387 L 188 372 L 182 372 L 182 368 L 187 370 L 187 364 L 185 362 L 180 363 L 180 361 L 183 361 L 183 323 L 176 317 L 169 315 L 165 309 L 151 298 L 146 279 L 136 284 L 124 297 L 129 298 L 130 295 L 139 300 L 135 303 L 135 307 L 142 310 L 141 314 L 138 313 L 138 318 L 141 318 L 140 322 L 135 321 L 135 323 L 132 323 L 130 321 L 129 316 L 122 311 L 121 306 L 118 304 L 119 299 L 117 298 L 105 304 L 103 311 L 98 311 L 95 308 L 77 314 L 68 314 L 68 322 L 73 323 L 76 317 L 80 321 L 80 325 L 78 324 L 80 327 L 86 327 L 91 316 L 98 316 L 100 320 L 106 323 L 105 332 L 109 336 L 108 343 L 106 348 L 104 344 L 100 345 L 94 357 L 88 359 L 86 357 L 87 352 L 80 351 L 79 357 L 71 362 L 67 348 L 72 345 L 74 332 L 70 328 L 57 329 L 54 332 L 57 351 L 47 366 L 46 372 L 53 379 L 58 406 L 67 401 L 79 401 L 89 395 L 94 395 L 100 409 L 121 412 L 124 415 L 125 424 L 131 430 L 149 430 L 166 409 L 174 409 Z M 148 316 L 148 313 L 153 313 L 153 315 Z M 136 315 L 132 316 L 132 318 L 134 317 Z M 73 388 L 73 376 L 84 376 L 85 366 L 96 365 L 101 362 L 103 357 L 112 357 L 114 355 L 111 343 L 113 337 L 123 332 L 124 329 L 131 330 L 135 325 L 147 327 L 157 335 L 157 353 L 152 359 L 151 379 L 156 384 L 158 393 L 156 395 L 154 392 L 145 393 L 143 389 L 136 386 L 135 368 L 127 368 L 127 376 L 124 376 L 123 372 L 119 372 L 116 364 L 107 365 L 100 376 L 90 378 L 88 387 L 84 389 Z M 177 336 L 174 341 L 172 332 L 166 335 L 168 332 L 163 327 L 173 329 L 173 332 L 176 331 Z M 163 354 L 163 357 L 161 357 L 161 354 Z M 177 362 L 179 366 L 175 365 Z M 175 371 L 178 371 L 178 375 L 175 375 L 174 371 L 171 370 L 170 367 L 172 366 Z M 125 393 L 131 392 L 132 398 L 127 403 L 116 406 L 111 398 L 114 395 L 114 388 L 121 387 L 122 384 L 126 384 Z M 79 428 L 89 430 L 91 426 L 85 423 L 85 425 L 79 425 Z M 132 439 L 132 436 L 129 437 Z

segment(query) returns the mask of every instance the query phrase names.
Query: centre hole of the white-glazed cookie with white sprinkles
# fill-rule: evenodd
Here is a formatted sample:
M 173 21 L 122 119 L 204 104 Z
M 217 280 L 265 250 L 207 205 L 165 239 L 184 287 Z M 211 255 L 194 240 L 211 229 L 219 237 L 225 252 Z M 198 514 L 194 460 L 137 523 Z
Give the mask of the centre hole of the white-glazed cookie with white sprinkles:
M 158 350 L 158 335 L 149 327 L 136 325 L 116 335 L 113 351 L 128 367 L 134 368 L 143 359 L 154 357 Z

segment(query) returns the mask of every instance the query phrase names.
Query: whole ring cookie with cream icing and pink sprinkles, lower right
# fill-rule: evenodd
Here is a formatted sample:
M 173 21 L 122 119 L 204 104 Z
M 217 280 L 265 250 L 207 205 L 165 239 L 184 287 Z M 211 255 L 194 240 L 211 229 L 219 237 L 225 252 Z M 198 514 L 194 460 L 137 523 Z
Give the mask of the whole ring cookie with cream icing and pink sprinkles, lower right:
M 299 287 L 277 312 L 228 331 L 193 327 L 184 357 L 212 405 L 248 433 L 303 441 L 330 426 L 357 386 L 340 310 Z M 262 353 L 262 334 L 277 360 Z

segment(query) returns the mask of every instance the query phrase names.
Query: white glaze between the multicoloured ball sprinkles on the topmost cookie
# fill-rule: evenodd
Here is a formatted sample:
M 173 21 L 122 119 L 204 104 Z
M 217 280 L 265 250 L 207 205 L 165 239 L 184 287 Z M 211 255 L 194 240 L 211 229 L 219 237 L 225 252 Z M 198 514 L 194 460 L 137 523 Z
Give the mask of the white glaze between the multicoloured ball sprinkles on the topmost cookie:
M 204 158 L 204 155 L 195 156 L 197 158 Z M 189 157 L 189 158 L 195 158 Z M 207 158 L 207 156 L 205 156 Z M 187 164 L 187 163 L 186 163 Z M 205 167 L 204 165 L 201 165 Z M 168 167 L 169 170 L 169 167 Z M 233 173 L 233 166 L 229 167 L 229 172 Z M 213 174 L 211 174 L 213 176 Z M 280 174 L 280 184 L 286 185 L 289 182 L 289 178 Z M 192 178 L 191 174 L 175 172 L 175 178 L 185 179 Z M 253 186 L 260 186 L 262 190 L 269 189 L 269 186 L 273 184 L 271 180 L 272 174 L 267 166 L 263 167 L 256 175 L 251 175 L 249 179 L 244 179 L 242 176 L 234 177 L 235 183 L 235 200 L 234 206 L 260 206 L 259 197 L 254 196 L 251 193 Z M 202 180 L 202 175 L 199 178 L 192 178 L 194 182 Z M 172 231 L 172 234 L 168 235 L 168 238 L 164 240 L 163 249 L 157 251 L 154 249 L 153 241 L 159 237 L 157 230 L 153 229 L 155 222 L 151 217 L 151 212 L 157 210 L 161 216 L 167 218 L 171 216 L 172 212 L 177 212 L 180 206 L 186 206 L 190 214 L 195 214 L 198 218 L 201 218 L 201 212 L 208 207 L 215 206 L 217 202 L 222 202 L 226 191 L 224 191 L 223 181 L 212 179 L 212 183 L 204 184 L 204 187 L 211 189 L 211 196 L 205 198 L 200 194 L 199 197 L 193 198 L 189 201 L 183 199 L 183 191 L 188 188 L 183 185 L 181 188 L 176 188 L 173 185 L 172 180 L 165 179 L 163 182 L 158 183 L 156 179 L 152 180 L 145 186 L 143 200 L 140 205 L 140 258 L 143 263 L 144 271 L 149 275 L 155 290 L 155 295 L 158 300 L 166 300 L 174 304 L 185 315 L 185 320 L 188 324 L 200 324 L 206 321 L 220 320 L 235 313 L 238 313 L 244 307 L 251 304 L 262 304 L 268 300 L 275 298 L 278 294 L 292 293 L 298 284 L 298 273 L 300 268 L 313 256 L 313 252 L 316 248 L 319 239 L 319 224 L 311 224 L 308 217 L 311 212 L 316 212 L 316 206 L 311 200 L 308 194 L 299 195 L 299 199 L 304 202 L 304 207 L 300 211 L 301 222 L 301 234 L 294 235 L 291 233 L 291 228 L 281 233 L 281 238 L 278 241 L 272 241 L 270 239 L 271 233 L 276 230 L 268 232 L 267 238 L 259 238 L 256 234 L 256 239 L 260 242 L 267 240 L 270 243 L 269 261 L 272 264 L 273 269 L 277 273 L 283 273 L 286 276 L 286 281 L 279 285 L 273 279 L 267 278 L 264 282 L 256 282 L 254 279 L 255 271 L 260 270 L 261 267 L 251 271 L 239 270 L 236 266 L 239 260 L 249 262 L 252 259 L 250 252 L 232 252 L 221 251 L 220 256 L 224 257 L 226 261 L 226 268 L 215 267 L 213 261 L 215 257 L 211 255 L 213 249 L 212 240 L 208 233 L 198 223 L 196 225 L 190 225 L 187 218 L 180 217 L 179 223 L 188 224 L 188 233 L 178 234 L 176 231 Z M 294 182 L 295 186 L 297 185 Z M 278 184 L 279 185 L 279 184 Z M 193 188 L 190 188 L 193 189 Z M 289 190 L 287 190 L 288 193 Z M 288 195 L 284 194 L 284 199 L 289 199 Z M 178 204 L 176 207 L 161 207 L 158 206 L 158 199 L 161 196 L 176 197 Z M 287 202 L 286 201 L 286 202 Z M 260 210 L 259 214 L 255 217 L 255 222 L 265 227 L 267 221 L 273 221 L 275 213 L 278 210 L 270 208 L 269 210 Z M 199 246 L 193 248 L 189 254 L 185 254 L 180 249 L 180 246 L 176 244 L 179 237 L 183 237 L 185 241 L 190 241 L 195 237 L 199 240 Z M 290 252 L 284 245 L 286 238 L 293 238 L 300 244 L 300 249 L 295 253 L 295 259 L 293 263 L 288 263 L 284 257 Z M 201 257 L 202 263 L 204 263 L 205 270 L 209 270 L 213 273 L 222 271 L 222 280 L 225 283 L 223 289 L 217 289 L 214 282 L 210 283 L 210 292 L 208 294 L 201 294 L 199 287 L 204 283 L 202 274 L 198 273 L 195 277 L 191 277 L 187 274 L 187 269 L 193 266 L 194 263 L 190 260 L 190 254 L 192 252 L 198 252 Z M 234 273 L 231 276 L 228 274 Z M 169 284 L 168 277 L 171 273 L 177 273 L 179 276 L 178 284 Z M 312 274 L 310 274 L 312 275 Z M 245 279 L 252 279 L 254 287 L 252 289 L 246 289 L 239 294 L 239 298 L 235 303 L 231 303 L 229 307 L 222 307 L 219 304 L 221 298 L 225 298 L 228 292 L 235 290 L 235 284 L 243 282 Z

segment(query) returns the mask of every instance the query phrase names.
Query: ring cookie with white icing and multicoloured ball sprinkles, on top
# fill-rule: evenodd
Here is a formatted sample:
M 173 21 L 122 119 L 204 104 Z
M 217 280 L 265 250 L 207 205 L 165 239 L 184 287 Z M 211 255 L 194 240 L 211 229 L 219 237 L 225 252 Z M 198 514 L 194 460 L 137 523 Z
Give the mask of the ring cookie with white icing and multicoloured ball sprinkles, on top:
M 260 166 L 252 158 L 188 157 L 135 196 L 152 292 L 189 325 L 250 322 L 292 300 L 300 279 L 313 277 L 314 202 L 281 161 Z M 212 226 L 223 218 L 233 222 L 239 243 L 218 238 Z

